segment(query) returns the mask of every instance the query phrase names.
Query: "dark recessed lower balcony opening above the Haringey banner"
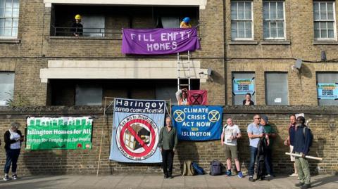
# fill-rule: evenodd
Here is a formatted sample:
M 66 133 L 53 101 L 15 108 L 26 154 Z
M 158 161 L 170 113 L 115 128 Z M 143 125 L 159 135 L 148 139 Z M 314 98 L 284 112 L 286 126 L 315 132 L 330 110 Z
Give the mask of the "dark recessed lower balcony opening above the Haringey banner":
M 104 105 L 104 97 L 177 103 L 177 79 L 51 79 L 49 85 L 51 105 Z M 199 89 L 199 79 L 191 79 L 191 89 Z

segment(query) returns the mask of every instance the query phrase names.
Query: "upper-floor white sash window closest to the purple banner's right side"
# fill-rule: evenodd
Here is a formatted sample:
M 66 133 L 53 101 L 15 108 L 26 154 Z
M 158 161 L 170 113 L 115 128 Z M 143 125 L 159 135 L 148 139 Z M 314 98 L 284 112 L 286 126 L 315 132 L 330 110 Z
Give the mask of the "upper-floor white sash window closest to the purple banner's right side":
M 231 2 L 231 39 L 253 39 L 252 1 Z

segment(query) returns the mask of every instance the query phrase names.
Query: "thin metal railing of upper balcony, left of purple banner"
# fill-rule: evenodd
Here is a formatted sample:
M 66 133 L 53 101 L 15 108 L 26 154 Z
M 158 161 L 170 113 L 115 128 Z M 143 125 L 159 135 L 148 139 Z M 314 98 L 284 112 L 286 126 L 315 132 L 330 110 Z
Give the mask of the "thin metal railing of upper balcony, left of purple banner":
M 118 29 L 110 28 L 92 28 L 92 27 L 56 27 L 51 26 L 51 36 L 74 36 L 75 33 L 79 34 L 80 37 L 108 37 L 112 39 L 122 39 L 122 31 Z

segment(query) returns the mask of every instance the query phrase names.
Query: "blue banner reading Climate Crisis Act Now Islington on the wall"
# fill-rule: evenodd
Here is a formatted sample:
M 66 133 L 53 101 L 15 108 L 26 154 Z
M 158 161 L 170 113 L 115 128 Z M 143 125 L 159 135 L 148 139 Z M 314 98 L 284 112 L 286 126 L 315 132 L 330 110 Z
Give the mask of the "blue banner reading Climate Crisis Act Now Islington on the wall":
M 173 126 L 179 140 L 211 141 L 220 139 L 223 107 L 176 105 L 172 107 Z

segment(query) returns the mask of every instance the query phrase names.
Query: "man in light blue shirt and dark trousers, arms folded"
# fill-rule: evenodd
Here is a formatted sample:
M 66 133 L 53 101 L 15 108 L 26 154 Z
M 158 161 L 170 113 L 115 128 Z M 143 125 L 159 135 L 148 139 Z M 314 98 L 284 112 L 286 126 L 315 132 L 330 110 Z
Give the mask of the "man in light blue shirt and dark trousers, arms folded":
M 253 174 L 255 162 L 258 152 L 258 142 L 260 138 L 265 137 L 269 145 L 269 137 L 264 134 L 264 128 L 259 123 L 261 122 L 260 115 L 253 116 L 253 123 L 248 125 L 248 136 L 250 141 L 250 165 L 249 165 L 249 181 L 253 182 Z

